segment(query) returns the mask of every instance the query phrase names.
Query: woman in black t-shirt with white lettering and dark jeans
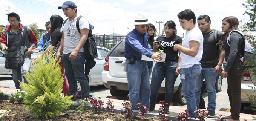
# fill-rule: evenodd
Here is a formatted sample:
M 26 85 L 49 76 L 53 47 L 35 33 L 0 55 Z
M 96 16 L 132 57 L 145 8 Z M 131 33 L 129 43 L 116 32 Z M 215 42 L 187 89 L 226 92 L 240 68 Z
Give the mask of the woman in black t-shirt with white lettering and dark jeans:
M 176 24 L 172 20 L 164 24 L 164 32 L 166 35 L 158 37 L 153 43 L 153 51 L 163 50 L 166 53 L 166 59 L 165 62 L 157 62 L 152 72 L 150 110 L 155 109 L 158 90 L 165 77 L 165 103 L 167 103 L 165 106 L 167 106 L 166 110 L 169 112 L 169 105 L 173 98 L 174 83 L 178 77 L 178 75 L 175 75 L 175 71 L 178 66 L 178 54 L 180 54 L 180 51 L 178 53 L 173 50 L 173 46 L 174 44 L 182 45 L 182 38 L 177 36 Z

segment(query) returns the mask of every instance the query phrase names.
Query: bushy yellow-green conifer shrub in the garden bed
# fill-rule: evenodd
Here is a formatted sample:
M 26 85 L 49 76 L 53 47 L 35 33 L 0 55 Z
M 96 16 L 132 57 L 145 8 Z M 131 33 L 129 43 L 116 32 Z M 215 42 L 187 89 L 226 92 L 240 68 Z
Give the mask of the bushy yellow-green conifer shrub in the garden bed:
M 52 51 L 50 51 L 52 52 Z M 49 58 L 49 63 L 46 57 Z M 32 63 L 31 73 L 27 72 L 28 84 L 21 82 L 21 88 L 27 92 L 24 98 L 26 108 L 35 118 L 55 118 L 62 110 L 67 109 L 72 101 L 72 96 L 61 97 L 63 74 L 61 74 L 60 61 L 51 54 L 37 57 L 37 63 Z

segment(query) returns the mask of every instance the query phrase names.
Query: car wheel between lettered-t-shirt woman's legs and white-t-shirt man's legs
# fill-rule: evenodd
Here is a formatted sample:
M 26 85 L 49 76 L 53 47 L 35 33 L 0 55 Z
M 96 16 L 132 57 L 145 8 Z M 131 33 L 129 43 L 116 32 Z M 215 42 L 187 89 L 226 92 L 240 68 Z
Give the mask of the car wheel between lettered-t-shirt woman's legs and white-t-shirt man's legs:
M 184 97 L 184 95 L 182 93 L 182 84 L 179 84 L 179 88 L 176 91 L 176 93 L 174 93 L 172 99 L 174 102 L 178 102 L 181 105 L 187 104 L 186 98 Z

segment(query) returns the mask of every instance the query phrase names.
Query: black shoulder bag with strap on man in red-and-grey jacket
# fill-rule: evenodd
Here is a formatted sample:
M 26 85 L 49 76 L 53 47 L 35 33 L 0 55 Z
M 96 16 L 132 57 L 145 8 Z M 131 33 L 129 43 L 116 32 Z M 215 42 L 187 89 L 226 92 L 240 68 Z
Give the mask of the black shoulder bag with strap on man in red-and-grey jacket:
M 22 46 L 20 51 L 8 52 L 5 58 L 5 68 L 6 69 L 18 69 L 24 63 L 24 44 L 27 35 L 27 26 L 24 26 Z M 7 38 L 8 39 L 8 38 Z M 9 47 L 8 47 L 9 48 Z

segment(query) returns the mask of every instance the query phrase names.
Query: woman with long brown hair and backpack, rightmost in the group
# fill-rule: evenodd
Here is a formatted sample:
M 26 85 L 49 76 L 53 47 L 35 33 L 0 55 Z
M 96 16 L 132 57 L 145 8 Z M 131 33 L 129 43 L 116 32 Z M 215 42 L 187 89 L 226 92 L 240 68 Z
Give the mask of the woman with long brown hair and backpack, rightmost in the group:
M 225 60 L 227 62 L 224 70 L 221 72 L 223 78 L 228 81 L 228 98 L 230 102 L 230 116 L 226 116 L 228 121 L 239 120 L 241 106 L 241 78 L 245 71 L 243 62 L 240 60 L 242 54 L 243 34 L 238 30 L 239 21 L 236 17 L 225 17 L 222 20 L 222 32 L 225 32 L 219 45 L 225 51 Z

